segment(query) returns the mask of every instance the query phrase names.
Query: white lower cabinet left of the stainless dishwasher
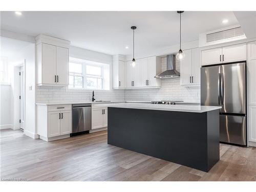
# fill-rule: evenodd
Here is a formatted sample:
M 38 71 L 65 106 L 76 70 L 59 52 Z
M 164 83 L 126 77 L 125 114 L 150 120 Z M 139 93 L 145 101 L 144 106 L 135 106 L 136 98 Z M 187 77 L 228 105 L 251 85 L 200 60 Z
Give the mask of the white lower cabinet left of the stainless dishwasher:
M 37 134 L 51 141 L 70 137 L 72 132 L 71 105 L 37 105 Z

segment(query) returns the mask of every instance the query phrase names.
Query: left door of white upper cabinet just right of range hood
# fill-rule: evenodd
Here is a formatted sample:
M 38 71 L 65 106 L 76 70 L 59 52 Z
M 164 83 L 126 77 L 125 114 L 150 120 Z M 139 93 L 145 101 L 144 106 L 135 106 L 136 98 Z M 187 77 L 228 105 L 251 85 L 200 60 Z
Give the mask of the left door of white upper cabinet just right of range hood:
M 191 65 L 192 65 L 192 51 L 185 50 L 183 51 L 186 57 L 180 61 L 180 84 L 188 85 L 191 81 Z

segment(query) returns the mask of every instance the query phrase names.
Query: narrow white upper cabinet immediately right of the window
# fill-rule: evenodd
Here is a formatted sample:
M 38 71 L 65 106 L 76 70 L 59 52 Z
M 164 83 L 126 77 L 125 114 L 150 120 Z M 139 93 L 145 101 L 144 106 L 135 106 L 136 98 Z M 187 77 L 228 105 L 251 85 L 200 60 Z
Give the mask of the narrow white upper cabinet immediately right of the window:
M 124 56 L 113 56 L 113 89 L 124 89 L 126 87 Z

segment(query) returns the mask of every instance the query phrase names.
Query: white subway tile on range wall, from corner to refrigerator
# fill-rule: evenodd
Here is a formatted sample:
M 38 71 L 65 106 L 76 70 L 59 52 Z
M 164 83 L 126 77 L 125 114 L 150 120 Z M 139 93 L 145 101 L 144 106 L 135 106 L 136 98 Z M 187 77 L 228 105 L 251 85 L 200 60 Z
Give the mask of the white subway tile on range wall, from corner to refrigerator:
M 166 57 L 161 58 L 162 71 L 166 70 Z M 176 61 L 176 70 L 180 71 L 180 63 Z M 125 100 L 183 100 L 200 102 L 200 87 L 180 86 L 180 78 L 161 79 L 160 89 L 125 90 Z

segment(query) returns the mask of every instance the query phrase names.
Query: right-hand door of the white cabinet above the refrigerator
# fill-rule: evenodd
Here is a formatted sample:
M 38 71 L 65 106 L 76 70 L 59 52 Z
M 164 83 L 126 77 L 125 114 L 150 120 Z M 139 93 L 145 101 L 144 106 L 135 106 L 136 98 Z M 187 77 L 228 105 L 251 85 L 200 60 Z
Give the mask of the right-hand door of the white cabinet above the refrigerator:
M 246 44 L 238 44 L 222 48 L 222 62 L 246 60 Z

